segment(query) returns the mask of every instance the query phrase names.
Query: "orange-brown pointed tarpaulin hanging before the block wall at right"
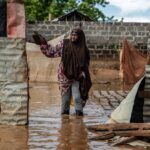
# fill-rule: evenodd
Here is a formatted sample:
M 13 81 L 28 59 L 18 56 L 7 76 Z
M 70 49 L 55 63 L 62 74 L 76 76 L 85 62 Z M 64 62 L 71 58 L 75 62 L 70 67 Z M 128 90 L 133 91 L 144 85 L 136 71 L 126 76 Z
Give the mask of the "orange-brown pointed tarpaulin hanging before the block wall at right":
M 144 56 L 138 49 L 123 41 L 123 48 L 120 52 L 120 75 L 124 85 L 134 84 L 145 73 L 147 63 Z

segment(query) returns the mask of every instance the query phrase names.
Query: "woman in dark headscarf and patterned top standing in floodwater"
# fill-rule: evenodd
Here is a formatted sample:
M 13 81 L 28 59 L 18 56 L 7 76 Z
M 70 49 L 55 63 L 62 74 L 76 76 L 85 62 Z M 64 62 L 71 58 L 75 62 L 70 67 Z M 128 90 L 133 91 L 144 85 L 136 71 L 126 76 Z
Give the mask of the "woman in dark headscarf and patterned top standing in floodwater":
M 33 38 L 45 56 L 62 58 L 58 68 L 61 114 L 69 115 L 73 97 L 76 115 L 83 116 L 83 107 L 92 85 L 89 74 L 90 55 L 83 30 L 73 29 L 69 39 L 64 39 L 54 47 L 47 44 L 41 35 L 34 34 Z

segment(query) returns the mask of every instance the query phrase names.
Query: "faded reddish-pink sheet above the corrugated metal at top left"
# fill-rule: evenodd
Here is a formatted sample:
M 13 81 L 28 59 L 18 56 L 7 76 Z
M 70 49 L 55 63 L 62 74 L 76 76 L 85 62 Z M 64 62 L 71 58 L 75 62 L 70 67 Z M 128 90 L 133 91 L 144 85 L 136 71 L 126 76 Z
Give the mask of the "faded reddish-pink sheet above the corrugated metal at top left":
M 7 0 L 7 37 L 25 38 L 23 0 Z

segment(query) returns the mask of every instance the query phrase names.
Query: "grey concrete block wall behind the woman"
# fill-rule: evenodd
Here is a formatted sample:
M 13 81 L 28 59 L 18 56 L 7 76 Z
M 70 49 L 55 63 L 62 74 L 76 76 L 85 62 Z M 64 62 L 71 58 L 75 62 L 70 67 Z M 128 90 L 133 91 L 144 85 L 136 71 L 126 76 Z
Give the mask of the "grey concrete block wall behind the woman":
M 27 40 L 33 42 L 33 31 L 38 31 L 47 40 L 51 40 L 74 26 L 81 26 L 84 30 L 93 58 L 116 58 L 125 37 L 141 52 L 147 51 L 150 23 L 32 22 L 27 24 Z

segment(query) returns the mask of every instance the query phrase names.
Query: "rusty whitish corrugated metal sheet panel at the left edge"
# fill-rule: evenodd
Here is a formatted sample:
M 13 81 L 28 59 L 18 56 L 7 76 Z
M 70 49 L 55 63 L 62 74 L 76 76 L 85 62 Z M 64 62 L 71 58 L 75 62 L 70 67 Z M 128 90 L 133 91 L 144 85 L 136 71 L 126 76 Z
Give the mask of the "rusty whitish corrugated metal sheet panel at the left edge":
M 0 124 L 27 124 L 27 112 L 25 40 L 0 38 Z

